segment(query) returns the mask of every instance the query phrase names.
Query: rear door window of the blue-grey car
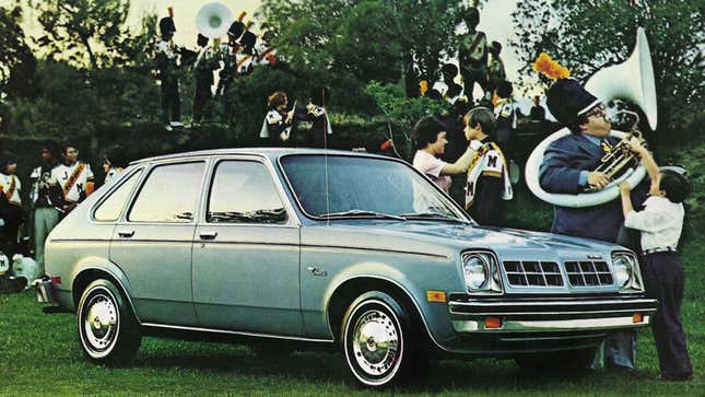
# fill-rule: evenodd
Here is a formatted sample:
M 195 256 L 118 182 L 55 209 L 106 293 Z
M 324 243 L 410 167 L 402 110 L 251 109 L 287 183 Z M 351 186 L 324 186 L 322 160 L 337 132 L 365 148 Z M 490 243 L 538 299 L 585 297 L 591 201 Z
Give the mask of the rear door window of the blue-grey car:
M 128 221 L 191 222 L 204 165 L 203 162 L 195 162 L 154 167 L 134 199 Z

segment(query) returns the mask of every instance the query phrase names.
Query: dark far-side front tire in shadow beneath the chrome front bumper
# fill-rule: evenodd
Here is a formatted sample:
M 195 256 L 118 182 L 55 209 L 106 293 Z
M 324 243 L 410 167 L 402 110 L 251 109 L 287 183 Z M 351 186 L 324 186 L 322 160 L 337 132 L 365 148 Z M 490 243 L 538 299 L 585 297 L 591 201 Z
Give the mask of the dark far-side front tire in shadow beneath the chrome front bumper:
M 514 359 L 528 373 L 581 373 L 590 369 L 597 348 L 532 353 Z

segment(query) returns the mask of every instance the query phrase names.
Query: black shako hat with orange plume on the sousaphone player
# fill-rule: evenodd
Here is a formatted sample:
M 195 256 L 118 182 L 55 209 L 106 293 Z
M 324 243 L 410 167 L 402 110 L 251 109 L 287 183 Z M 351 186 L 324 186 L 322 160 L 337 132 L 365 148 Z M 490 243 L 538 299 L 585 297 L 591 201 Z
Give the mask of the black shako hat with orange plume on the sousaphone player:
M 571 72 L 545 52 L 533 62 L 533 70 L 555 81 L 545 93 L 549 110 L 559 122 L 571 126 L 578 117 L 600 103 L 580 83 L 571 79 Z

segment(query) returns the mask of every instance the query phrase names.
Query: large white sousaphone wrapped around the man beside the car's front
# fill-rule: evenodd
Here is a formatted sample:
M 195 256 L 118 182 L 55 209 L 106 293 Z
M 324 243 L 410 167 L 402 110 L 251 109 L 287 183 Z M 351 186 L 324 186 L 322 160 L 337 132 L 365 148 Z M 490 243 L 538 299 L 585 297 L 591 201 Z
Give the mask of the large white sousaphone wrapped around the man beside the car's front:
M 639 106 L 646 115 L 649 127 L 656 129 L 656 85 L 651 56 L 644 28 L 639 27 L 636 32 L 636 46 L 632 55 L 622 63 L 596 72 L 587 81 L 585 89 L 603 103 L 621 98 Z M 539 199 L 559 207 L 591 207 L 613 200 L 620 194 L 620 183 L 626 180 L 631 187 L 634 187 L 646 175 L 644 166 L 638 164 L 638 159 L 628 150 L 630 139 L 636 138 L 642 143 L 644 142 L 641 138 L 641 132 L 636 129 L 637 124 L 638 116 L 631 131 L 612 130 L 610 132 L 610 136 L 620 138 L 621 141 L 602 159 L 600 166 L 596 170 L 606 172 L 612 178 L 612 182 L 603 189 L 588 190 L 578 195 L 566 195 L 551 194 L 541 188 L 539 168 L 543 162 L 543 153 L 549 144 L 571 135 L 567 128 L 552 133 L 533 149 L 526 163 L 525 177 L 527 186 Z

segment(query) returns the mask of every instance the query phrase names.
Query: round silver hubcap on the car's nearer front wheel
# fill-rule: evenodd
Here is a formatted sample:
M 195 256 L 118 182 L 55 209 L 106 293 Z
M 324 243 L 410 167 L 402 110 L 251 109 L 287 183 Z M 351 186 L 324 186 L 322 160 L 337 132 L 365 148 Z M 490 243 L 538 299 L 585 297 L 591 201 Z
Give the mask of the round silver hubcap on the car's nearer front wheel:
M 353 354 L 367 375 L 383 376 L 399 361 L 399 331 L 381 311 L 365 312 L 355 323 Z

